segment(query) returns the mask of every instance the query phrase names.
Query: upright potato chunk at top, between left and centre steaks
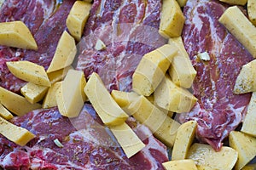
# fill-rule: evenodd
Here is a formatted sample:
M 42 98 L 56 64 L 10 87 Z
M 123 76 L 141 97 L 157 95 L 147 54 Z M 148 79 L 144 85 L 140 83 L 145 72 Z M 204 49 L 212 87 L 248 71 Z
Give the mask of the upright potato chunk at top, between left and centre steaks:
M 90 7 L 90 3 L 76 1 L 67 16 L 67 29 L 77 41 L 82 37 L 85 23 L 90 14 Z

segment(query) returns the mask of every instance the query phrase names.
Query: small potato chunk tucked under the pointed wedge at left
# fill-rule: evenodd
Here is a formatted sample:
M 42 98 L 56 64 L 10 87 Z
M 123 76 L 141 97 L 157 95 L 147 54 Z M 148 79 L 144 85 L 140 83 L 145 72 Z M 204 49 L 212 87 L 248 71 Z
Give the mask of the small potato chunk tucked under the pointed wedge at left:
M 35 104 L 44 98 L 48 88 L 49 87 L 27 82 L 25 86 L 20 88 L 20 93 L 23 94 L 31 104 Z

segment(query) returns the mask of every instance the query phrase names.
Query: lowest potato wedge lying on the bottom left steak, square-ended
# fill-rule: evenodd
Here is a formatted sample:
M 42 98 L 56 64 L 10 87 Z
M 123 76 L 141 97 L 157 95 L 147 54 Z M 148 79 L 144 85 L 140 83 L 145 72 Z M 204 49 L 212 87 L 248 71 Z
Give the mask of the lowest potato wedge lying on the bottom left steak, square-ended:
M 145 147 L 143 141 L 137 137 L 137 134 L 125 122 L 118 126 L 110 127 L 110 130 L 128 158 L 134 156 Z

